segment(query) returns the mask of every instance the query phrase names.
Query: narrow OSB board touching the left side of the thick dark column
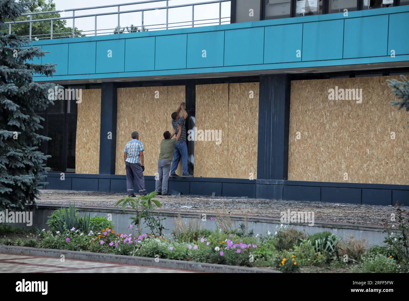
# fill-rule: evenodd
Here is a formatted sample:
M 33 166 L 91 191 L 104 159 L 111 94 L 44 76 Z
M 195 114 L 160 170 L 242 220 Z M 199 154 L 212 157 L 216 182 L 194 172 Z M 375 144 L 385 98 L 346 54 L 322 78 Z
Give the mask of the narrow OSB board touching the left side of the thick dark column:
M 258 89 L 259 83 L 229 84 L 229 178 L 257 178 Z

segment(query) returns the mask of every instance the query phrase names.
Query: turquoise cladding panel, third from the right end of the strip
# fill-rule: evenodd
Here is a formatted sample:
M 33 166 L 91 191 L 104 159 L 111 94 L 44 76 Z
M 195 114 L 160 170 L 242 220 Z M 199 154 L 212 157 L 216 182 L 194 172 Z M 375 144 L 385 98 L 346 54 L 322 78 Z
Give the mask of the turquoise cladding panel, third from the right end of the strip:
M 303 61 L 342 59 L 344 20 L 304 23 Z

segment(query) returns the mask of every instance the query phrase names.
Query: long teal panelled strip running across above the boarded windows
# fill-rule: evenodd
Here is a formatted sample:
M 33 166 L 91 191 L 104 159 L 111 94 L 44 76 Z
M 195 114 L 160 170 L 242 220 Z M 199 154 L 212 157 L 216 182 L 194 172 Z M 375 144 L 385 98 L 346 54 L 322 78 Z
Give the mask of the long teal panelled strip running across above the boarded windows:
M 41 61 L 58 65 L 54 80 L 162 77 L 408 61 L 408 23 L 407 5 L 31 45 L 50 52 Z

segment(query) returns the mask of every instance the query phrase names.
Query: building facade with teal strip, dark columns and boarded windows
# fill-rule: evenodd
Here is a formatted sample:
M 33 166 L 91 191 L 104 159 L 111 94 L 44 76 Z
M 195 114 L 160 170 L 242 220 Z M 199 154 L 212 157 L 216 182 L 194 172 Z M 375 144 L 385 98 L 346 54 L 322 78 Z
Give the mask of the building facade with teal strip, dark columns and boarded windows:
M 172 194 L 409 205 L 409 115 L 386 81 L 409 74 L 409 5 L 331 13 L 324 1 L 304 16 L 296 2 L 279 16 L 261 2 L 266 20 L 33 41 L 49 52 L 37 61 L 57 64 L 34 80 L 81 89 L 40 113 L 45 188 L 126 193 L 136 130 L 153 191 L 183 101 L 194 177 L 171 178 Z

